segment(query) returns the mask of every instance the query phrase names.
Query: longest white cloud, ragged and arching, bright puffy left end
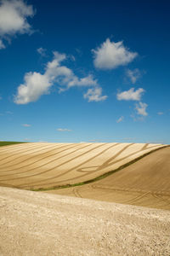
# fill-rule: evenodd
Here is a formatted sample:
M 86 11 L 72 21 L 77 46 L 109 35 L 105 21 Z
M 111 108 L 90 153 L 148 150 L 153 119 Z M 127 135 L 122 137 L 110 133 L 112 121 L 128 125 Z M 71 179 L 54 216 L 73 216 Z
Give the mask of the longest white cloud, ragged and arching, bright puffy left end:
M 70 68 L 61 65 L 61 62 L 65 59 L 65 54 L 59 54 L 55 51 L 54 59 L 47 63 L 44 73 L 26 73 L 25 82 L 18 87 L 14 102 L 17 104 L 36 102 L 43 94 L 49 94 L 50 88 L 54 84 L 59 85 L 59 91 L 68 90 L 74 86 L 99 86 L 92 75 L 79 79 Z M 98 94 L 94 101 L 99 101 L 102 98 L 100 87 L 97 87 L 94 91 L 95 94 Z

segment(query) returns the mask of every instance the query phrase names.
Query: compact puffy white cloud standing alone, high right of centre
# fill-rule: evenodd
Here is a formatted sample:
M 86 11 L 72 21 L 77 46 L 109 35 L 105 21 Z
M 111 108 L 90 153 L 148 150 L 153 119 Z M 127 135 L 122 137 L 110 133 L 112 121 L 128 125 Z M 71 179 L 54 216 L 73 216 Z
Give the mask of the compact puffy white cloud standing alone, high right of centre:
M 109 38 L 101 44 L 94 52 L 94 66 L 100 69 L 114 69 L 127 65 L 138 55 L 127 49 L 122 41 L 114 43 Z

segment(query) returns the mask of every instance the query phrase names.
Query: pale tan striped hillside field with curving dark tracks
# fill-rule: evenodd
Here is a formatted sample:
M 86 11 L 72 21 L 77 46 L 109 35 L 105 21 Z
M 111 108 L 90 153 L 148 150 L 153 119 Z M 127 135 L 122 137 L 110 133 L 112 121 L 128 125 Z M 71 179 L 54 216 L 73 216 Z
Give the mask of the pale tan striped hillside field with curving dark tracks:
M 161 147 L 142 143 L 23 143 L 1 147 L 0 186 L 46 189 L 81 183 Z

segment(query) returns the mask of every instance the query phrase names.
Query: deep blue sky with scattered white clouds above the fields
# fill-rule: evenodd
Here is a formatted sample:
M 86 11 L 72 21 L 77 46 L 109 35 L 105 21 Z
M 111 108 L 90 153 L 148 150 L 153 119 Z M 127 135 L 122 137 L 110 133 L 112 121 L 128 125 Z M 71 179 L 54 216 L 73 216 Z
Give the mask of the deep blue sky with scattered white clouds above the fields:
M 0 1 L 0 140 L 170 143 L 169 8 Z

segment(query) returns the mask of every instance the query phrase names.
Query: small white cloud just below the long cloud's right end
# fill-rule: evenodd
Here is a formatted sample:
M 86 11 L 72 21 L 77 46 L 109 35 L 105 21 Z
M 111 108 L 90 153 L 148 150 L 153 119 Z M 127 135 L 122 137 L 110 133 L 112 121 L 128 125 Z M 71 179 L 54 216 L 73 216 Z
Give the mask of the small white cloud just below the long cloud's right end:
M 107 96 L 102 96 L 102 88 L 95 87 L 88 89 L 88 92 L 84 94 L 84 98 L 88 99 L 88 102 L 101 102 L 105 101 Z

